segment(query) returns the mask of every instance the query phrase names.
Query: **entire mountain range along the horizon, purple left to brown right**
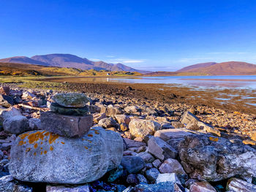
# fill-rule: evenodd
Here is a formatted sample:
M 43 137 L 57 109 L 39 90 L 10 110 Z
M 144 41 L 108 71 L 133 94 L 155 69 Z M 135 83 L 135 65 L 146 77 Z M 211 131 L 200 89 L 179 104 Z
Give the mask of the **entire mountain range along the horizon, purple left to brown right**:
M 0 63 L 31 64 L 37 66 L 66 67 L 72 69 L 94 69 L 113 72 L 138 72 L 147 75 L 252 75 L 256 74 L 256 65 L 241 61 L 228 61 L 222 63 L 208 62 L 186 66 L 176 72 L 147 72 L 124 64 L 108 64 L 104 61 L 90 61 L 70 54 L 35 55 L 31 58 L 17 56 L 0 59 Z M 31 69 L 31 66 L 30 66 Z

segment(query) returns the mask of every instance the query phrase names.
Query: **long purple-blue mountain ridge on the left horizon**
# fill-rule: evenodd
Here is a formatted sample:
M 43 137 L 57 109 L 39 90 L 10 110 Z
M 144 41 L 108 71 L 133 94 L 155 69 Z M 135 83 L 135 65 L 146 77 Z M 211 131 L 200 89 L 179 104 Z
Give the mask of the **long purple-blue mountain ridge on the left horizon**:
M 116 72 L 139 72 L 146 73 L 146 71 L 140 71 L 133 69 L 132 67 L 125 66 L 123 64 L 108 64 L 104 61 L 90 61 L 87 58 L 80 58 L 76 55 L 70 54 L 49 54 L 49 55 L 35 55 L 31 58 L 25 56 L 18 56 L 12 58 L 0 59 L 1 63 L 16 63 L 16 64 L 34 64 L 42 66 L 59 66 L 70 67 L 76 69 L 95 69 L 95 70 L 108 70 Z

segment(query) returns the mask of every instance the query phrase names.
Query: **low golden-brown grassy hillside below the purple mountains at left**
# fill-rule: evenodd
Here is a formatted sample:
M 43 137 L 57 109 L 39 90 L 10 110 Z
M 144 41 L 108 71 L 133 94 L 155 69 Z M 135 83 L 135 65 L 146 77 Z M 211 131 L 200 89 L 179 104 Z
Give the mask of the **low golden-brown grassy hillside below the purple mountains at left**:
M 59 66 L 42 66 L 34 64 L 12 64 L 0 63 L 0 76 L 106 76 L 110 75 L 141 75 L 138 72 L 108 72 L 105 70 L 97 71 L 94 69 L 82 70 L 76 68 L 66 68 Z

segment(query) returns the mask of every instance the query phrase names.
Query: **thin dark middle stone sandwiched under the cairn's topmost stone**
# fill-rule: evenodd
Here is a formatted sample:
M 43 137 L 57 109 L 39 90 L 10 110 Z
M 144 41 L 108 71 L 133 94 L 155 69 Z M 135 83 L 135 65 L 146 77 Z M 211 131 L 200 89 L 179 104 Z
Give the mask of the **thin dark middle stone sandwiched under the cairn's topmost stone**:
M 50 104 L 50 110 L 63 115 L 86 115 L 89 113 L 89 107 L 62 107 L 57 103 Z

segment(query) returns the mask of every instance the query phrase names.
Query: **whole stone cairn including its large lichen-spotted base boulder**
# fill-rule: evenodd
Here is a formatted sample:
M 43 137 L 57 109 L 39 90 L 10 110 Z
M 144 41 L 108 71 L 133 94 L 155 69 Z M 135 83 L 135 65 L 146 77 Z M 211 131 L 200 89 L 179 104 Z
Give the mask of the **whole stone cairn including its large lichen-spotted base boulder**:
M 40 116 L 43 130 L 21 134 L 12 145 L 12 177 L 34 183 L 89 183 L 121 164 L 121 136 L 91 128 L 86 95 L 59 93 L 52 100 L 50 111 Z

